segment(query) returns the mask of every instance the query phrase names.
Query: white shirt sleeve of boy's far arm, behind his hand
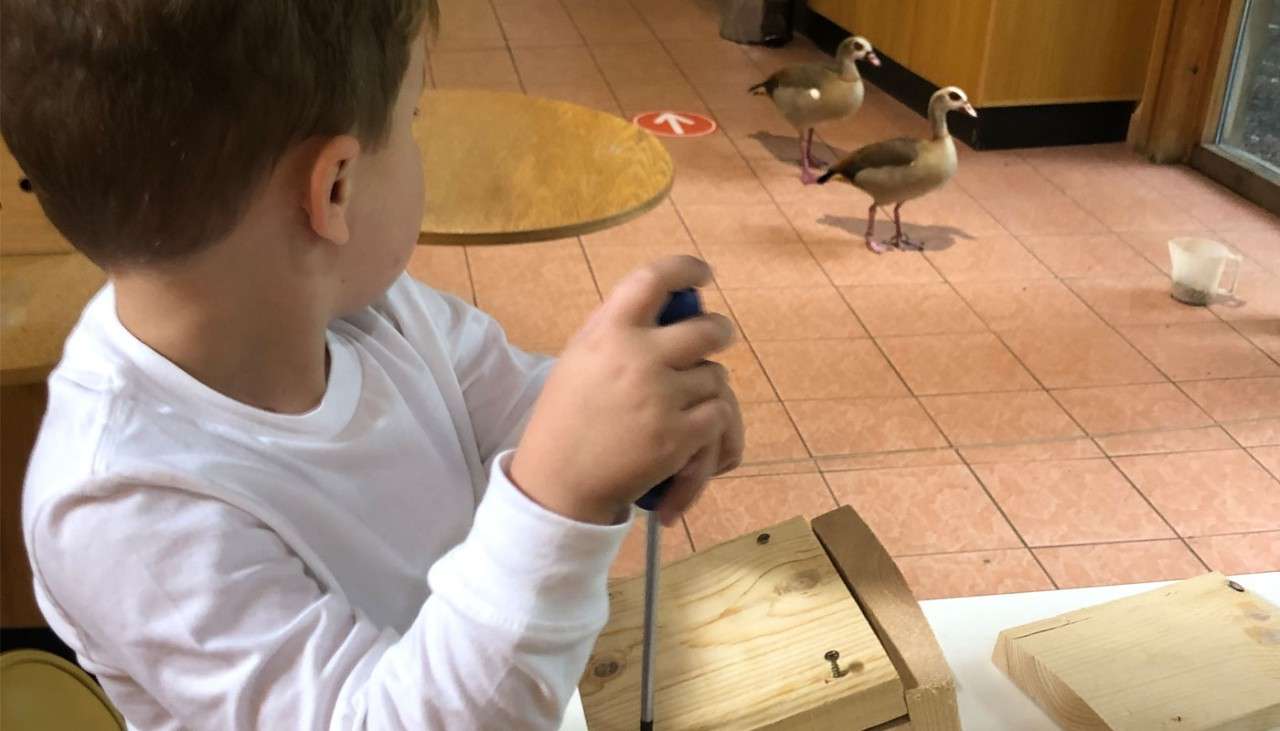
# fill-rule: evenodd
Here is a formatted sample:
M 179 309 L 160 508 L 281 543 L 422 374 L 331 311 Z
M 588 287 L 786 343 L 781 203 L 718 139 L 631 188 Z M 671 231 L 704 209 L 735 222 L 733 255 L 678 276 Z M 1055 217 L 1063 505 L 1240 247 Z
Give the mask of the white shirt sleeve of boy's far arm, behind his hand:
M 408 275 L 396 283 L 392 294 L 402 326 L 415 312 L 424 312 L 444 341 L 480 457 L 492 465 L 497 454 L 520 440 L 554 358 L 521 351 L 492 316 Z M 406 330 L 420 329 L 408 324 Z

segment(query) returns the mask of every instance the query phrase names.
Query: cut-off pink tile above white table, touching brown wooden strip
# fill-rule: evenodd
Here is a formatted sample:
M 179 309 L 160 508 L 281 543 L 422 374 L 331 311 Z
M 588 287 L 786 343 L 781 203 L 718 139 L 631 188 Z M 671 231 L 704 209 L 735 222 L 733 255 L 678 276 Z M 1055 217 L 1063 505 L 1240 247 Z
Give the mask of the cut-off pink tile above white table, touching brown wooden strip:
M 904 556 L 895 561 L 920 600 L 1053 589 L 1025 548 Z

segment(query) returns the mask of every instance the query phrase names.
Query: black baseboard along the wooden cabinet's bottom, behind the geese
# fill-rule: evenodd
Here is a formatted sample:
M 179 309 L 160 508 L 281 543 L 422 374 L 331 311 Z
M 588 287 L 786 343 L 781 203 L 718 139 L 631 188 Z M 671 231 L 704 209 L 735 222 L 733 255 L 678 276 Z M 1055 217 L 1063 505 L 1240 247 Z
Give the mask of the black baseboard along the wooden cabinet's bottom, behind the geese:
M 835 54 L 849 31 L 804 8 L 796 29 L 819 49 Z M 876 42 L 870 38 L 872 44 Z M 929 96 L 938 90 L 928 79 L 877 50 L 881 67 L 859 67 L 863 78 L 924 116 Z M 1129 132 L 1129 116 L 1137 102 L 1097 101 L 1082 104 L 1041 104 L 1030 106 L 983 106 L 978 118 L 952 114 L 947 119 L 951 134 L 974 150 L 1010 150 L 1060 145 L 1123 142 Z

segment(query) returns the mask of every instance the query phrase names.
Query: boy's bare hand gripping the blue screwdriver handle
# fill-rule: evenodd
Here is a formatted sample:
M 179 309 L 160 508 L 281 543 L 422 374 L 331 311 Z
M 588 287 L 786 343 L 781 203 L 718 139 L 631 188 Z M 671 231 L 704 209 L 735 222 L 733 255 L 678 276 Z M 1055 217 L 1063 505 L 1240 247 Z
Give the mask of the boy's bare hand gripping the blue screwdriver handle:
M 566 517 L 618 521 L 676 475 L 660 507 L 673 522 L 742 453 L 727 373 L 707 358 L 728 346 L 728 319 L 707 314 L 659 328 L 672 292 L 710 279 L 678 256 L 631 273 L 564 348 L 511 463 L 530 498 Z

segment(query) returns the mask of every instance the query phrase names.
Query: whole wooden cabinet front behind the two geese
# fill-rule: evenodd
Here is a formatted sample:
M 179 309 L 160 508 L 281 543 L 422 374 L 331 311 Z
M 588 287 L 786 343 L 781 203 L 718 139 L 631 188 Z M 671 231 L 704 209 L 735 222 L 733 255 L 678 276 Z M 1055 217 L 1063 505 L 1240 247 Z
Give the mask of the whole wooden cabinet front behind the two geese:
M 1142 97 L 1160 0 L 809 0 L 975 106 Z

